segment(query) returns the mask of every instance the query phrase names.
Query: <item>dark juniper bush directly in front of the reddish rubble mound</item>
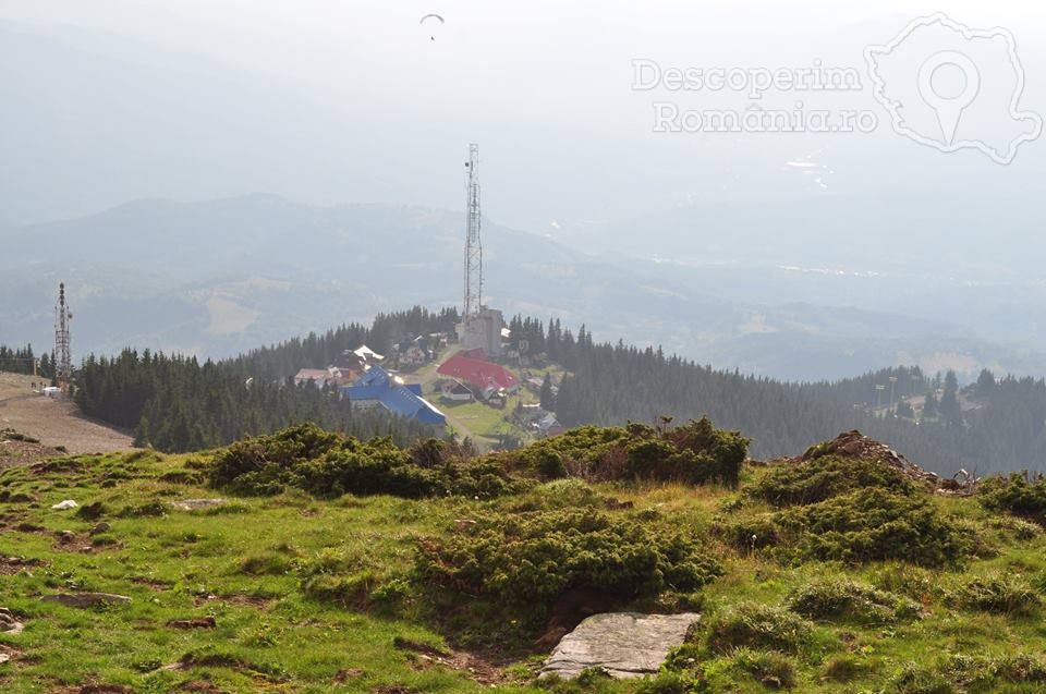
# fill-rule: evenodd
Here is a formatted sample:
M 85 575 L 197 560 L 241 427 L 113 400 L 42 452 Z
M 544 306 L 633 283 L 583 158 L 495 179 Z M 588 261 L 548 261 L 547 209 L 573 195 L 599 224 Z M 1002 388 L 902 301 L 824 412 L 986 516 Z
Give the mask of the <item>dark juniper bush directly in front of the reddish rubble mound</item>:
M 826 455 L 801 463 L 774 465 L 749 488 L 749 494 L 774 506 L 786 507 L 817 503 L 865 488 L 897 494 L 910 494 L 915 489 L 901 471 L 886 463 Z

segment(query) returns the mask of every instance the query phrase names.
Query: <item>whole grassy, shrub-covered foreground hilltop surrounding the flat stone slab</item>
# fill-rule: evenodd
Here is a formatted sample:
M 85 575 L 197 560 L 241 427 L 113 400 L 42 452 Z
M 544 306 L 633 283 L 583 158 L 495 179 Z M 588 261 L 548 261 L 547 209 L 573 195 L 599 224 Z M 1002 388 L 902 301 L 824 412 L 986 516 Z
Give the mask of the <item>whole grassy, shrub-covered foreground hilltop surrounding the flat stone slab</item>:
M 1046 683 L 1046 483 L 997 478 L 973 497 L 942 496 L 853 434 L 776 463 L 745 461 L 745 449 L 707 421 L 581 427 L 479 458 L 303 426 L 210 452 L 9 468 L 0 607 L 24 631 L 0 634 L 0 685 Z M 65 499 L 78 508 L 52 508 Z M 110 597 L 86 609 L 45 599 L 85 593 Z M 609 610 L 700 619 L 645 681 L 535 680 L 563 633 Z

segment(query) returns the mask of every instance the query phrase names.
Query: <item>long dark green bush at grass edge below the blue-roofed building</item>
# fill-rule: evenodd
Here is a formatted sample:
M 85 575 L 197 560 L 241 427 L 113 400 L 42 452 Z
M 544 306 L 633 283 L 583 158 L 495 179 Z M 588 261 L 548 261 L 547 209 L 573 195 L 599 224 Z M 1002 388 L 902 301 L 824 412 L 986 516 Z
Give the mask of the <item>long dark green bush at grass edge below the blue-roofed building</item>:
M 489 460 L 453 458 L 440 441 L 404 450 L 388 437 L 360 441 L 312 425 L 229 446 L 215 455 L 208 477 L 212 486 L 239 494 L 275 495 L 299 488 L 317 497 L 486 498 L 525 486 Z

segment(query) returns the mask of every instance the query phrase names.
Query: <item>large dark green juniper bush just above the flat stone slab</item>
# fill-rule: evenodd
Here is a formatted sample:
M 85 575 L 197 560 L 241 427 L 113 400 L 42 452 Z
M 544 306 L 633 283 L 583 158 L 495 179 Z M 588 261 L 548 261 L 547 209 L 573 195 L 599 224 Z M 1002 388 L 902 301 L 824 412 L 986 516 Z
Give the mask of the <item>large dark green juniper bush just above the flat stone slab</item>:
M 688 534 L 592 509 L 492 514 L 466 533 L 419 543 L 426 585 L 518 606 L 549 605 L 570 589 L 620 600 L 693 590 L 721 573 Z

